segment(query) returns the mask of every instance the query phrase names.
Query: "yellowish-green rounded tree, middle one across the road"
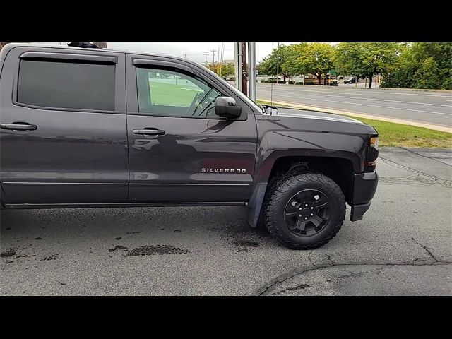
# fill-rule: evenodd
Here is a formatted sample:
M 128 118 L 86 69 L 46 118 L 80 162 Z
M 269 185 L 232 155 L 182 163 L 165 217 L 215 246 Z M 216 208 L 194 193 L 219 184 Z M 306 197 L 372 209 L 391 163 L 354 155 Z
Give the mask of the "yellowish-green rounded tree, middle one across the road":
M 327 74 L 334 66 L 334 47 L 331 44 L 314 42 L 300 44 L 295 49 L 297 50 L 297 64 L 294 65 L 294 68 L 297 69 L 297 73 L 313 74 L 321 85 L 322 74 Z

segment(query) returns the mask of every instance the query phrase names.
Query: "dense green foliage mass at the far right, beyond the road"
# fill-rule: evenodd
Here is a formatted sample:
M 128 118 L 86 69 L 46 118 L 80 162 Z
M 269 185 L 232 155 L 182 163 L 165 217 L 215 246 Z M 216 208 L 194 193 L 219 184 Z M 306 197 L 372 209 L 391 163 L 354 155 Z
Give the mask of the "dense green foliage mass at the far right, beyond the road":
M 415 42 L 400 55 L 382 87 L 452 90 L 452 43 Z

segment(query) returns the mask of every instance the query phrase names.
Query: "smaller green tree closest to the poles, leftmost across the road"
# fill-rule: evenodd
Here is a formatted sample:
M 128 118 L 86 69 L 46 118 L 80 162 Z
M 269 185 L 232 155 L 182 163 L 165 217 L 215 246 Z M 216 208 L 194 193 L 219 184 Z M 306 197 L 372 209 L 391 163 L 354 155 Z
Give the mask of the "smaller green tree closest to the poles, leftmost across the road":
M 295 75 L 295 69 L 289 66 L 289 63 L 293 61 L 293 57 L 294 49 L 292 45 L 282 45 L 279 48 L 274 48 L 271 54 L 263 58 L 258 65 L 259 73 L 268 76 L 282 75 L 285 82 L 286 78 Z

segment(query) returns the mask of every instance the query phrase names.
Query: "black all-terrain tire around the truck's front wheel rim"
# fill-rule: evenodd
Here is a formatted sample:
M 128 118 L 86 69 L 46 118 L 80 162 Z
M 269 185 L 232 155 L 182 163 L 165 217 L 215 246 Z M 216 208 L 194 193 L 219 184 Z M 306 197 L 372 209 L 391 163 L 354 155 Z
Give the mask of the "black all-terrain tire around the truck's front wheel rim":
M 309 237 L 294 234 L 285 223 L 285 206 L 292 196 L 304 190 L 319 190 L 331 203 L 331 213 L 321 230 Z M 329 242 L 339 232 L 345 219 L 345 196 L 333 179 L 321 173 L 287 174 L 271 187 L 264 206 L 266 227 L 284 246 L 290 249 L 316 249 Z

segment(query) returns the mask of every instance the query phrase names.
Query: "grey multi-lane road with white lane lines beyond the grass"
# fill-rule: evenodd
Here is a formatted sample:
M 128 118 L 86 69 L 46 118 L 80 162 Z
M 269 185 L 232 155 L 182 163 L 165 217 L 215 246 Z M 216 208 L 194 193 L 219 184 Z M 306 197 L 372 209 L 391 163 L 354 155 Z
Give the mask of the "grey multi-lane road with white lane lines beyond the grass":
M 270 83 L 258 83 L 258 99 L 270 100 Z M 273 84 L 273 100 L 341 109 L 439 126 L 452 126 L 452 93 Z

